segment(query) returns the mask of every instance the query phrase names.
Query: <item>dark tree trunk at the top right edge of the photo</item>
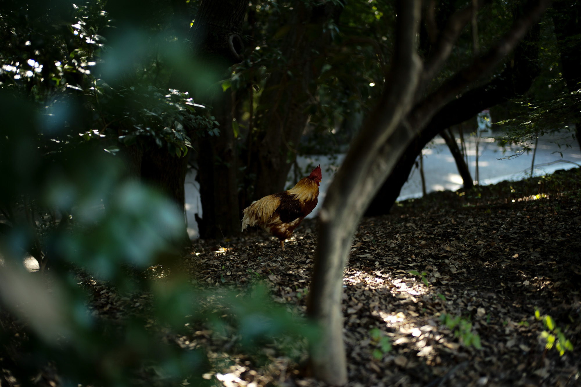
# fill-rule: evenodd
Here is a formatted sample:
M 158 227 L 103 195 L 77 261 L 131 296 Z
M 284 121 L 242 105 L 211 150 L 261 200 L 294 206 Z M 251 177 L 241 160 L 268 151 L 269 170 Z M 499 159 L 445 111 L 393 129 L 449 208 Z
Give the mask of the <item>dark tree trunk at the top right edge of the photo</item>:
M 561 71 L 567 83 L 569 92 L 577 91 L 581 88 L 581 2 L 570 0 L 558 0 L 553 2 L 553 8 L 556 12 L 553 14 L 553 23 L 555 24 L 555 35 L 557 35 L 557 44 L 561 52 Z M 576 127 L 576 137 L 581 147 L 581 114 L 573 117 Z

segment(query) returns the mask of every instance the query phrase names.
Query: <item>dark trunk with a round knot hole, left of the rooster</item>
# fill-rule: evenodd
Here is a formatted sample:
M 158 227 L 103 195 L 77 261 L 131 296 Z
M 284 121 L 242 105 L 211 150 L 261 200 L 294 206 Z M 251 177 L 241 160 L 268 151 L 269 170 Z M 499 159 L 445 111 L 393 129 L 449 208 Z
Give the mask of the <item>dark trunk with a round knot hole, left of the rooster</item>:
M 248 8 L 243 0 L 204 0 L 189 36 L 198 77 L 191 80 L 195 98 L 210 105 L 220 135 L 199 139 L 198 176 L 202 217 L 196 221 L 202 238 L 240 232 L 236 146 L 232 132 L 231 92 L 209 80 L 229 78 L 228 69 L 242 60 L 242 23 Z

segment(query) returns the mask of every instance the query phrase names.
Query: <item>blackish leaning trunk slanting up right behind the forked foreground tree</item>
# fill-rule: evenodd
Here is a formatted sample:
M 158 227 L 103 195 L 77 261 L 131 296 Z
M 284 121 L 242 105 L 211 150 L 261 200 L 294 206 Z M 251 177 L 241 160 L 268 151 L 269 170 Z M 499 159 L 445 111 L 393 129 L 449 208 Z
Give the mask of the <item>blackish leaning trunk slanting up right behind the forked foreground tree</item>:
M 406 183 L 415 159 L 432 138 L 453 125 L 471 119 L 482 110 L 498 103 L 507 101 L 528 91 L 537 75 L 539 67 L 536 64 L 539 58 L 540 25 L 533 27 L 525 41 L 515 49 L 514 59 L 507 64 L 500 76 L 489 83 L 472 89 L 458 99 L 447 103 L 430 123 L 422 130 L 407 147 L 400 157 L 392 173 L 383 183 L 379 192 L 372 200 L 365 212 L 365 216 L 377 216 L 389 213 L 389 210 L 399 196 L 401 187 Z

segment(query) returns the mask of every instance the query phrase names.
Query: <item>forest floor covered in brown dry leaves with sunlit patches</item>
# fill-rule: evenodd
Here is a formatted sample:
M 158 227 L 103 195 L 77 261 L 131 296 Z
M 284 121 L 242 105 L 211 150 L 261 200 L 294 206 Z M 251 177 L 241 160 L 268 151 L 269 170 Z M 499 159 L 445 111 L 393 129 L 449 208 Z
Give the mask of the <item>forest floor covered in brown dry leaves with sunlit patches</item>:
M 557 171 L 364 218 L 343 281 L 349 386 L 581 385 L 579 188 L 581 170 Z M 304 313 L 315 228 L 304 222 L 285 251 L 262 231 L 198 241 L 184 269 L 209 288 L 267 281 L 275 302 Z M 573 350 L 561 354 L 559 338 Z M 257 367 L 211 335 L 198 343 L 223 357 L 226 387 L 321 385 L 276 347 Z

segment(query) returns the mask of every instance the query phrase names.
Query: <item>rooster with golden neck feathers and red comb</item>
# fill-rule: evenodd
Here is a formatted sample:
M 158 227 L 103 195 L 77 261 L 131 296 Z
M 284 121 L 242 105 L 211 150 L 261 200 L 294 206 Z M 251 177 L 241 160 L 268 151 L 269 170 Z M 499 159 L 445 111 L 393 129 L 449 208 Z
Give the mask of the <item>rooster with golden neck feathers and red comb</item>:
M 259 225 L 269 234 L 281 241 L 285 249 L 285 239 L 290 238 L 293 230 L 317 206 L 321 166 L 313 169 L 311 174 L 297 182 L 288 191 L 273 193 L 255 200 L 243 210 L 242 231 L 246 227 Z

